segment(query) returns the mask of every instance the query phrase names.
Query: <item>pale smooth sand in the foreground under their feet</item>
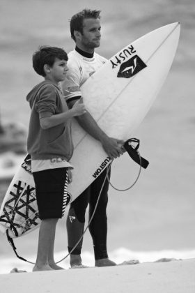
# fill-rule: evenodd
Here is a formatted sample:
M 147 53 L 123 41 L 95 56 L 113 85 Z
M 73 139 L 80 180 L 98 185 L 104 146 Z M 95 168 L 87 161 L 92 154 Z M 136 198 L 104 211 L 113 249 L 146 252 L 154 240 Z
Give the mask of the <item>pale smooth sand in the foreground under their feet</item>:
M 195 259 L 0 275 L 1 293 L 191 293 Z

